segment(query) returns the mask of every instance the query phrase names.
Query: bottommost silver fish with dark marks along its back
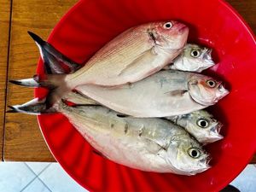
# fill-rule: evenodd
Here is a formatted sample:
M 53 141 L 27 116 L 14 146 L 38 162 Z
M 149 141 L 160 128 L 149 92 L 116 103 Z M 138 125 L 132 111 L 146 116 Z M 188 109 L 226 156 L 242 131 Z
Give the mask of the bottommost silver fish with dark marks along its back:
M 40 111 L 35 101 L 13 112 Z M 31 105 L 31 106 L 30 106 Z M 90 145 L 109 160 L 144 172 L 195 175 L 210 168 L 210 155 L 189 133 L 166 119 L 124 116 L 102 106 L 55 103 Z M 45 111 L 44 111 L 45 112 Z

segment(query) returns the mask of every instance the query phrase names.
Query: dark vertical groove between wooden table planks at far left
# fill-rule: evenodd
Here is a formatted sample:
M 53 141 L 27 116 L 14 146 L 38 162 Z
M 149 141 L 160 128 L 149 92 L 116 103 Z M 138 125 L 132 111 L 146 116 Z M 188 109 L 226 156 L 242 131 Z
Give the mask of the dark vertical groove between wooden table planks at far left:
M 6 107 L 7 107 L 7 88 L 8 88 L 8 75 L 9 75 L 9 55 L 10 55 L 10 40 L 11 40 L 11 28 L 13 19 L 13 0 L 10 0 L 9 5 L 9 37 L 8 37 L 8 48 L 7 48 L 7 67 L 5 77 L 5 91 L 4 91 L 4 113 L 3 113 L 3 141 L 2 141 L 2 160 L 4 161 L 4 138 L 5 138 L 5 123 L 6 123 Z

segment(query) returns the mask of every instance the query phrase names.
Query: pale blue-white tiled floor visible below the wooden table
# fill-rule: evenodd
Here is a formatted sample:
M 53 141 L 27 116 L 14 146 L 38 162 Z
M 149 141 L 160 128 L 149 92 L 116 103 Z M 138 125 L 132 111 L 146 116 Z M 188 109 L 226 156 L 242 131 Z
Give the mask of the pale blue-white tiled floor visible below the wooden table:
M 241 192 L 256 191 L 256 165 L 249 165 L 231 183 Z M 58 163 L 0 163 L 0 191 L 87 192 L 67 175 Z

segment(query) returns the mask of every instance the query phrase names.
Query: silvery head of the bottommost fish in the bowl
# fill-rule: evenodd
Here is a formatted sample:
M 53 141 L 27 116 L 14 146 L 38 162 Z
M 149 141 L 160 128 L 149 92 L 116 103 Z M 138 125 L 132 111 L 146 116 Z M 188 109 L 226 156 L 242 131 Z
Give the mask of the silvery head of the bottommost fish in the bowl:
M 195 175 L 211 167 L 210 155 L 201 148 L 200 143 L 189 136 L 189 133 L 172 138 L 167 156 L 167 162 L 186 175 Z

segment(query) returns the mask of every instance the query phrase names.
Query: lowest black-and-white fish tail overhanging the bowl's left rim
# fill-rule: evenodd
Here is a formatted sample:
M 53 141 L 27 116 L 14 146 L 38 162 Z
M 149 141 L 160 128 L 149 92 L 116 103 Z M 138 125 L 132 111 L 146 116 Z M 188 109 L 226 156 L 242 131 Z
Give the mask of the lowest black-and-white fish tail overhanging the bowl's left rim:
M 35 98 L 21 105 L 8 106 L 10 108 L 6 113 L 27 113 L 27 114 L 43 114 L 57 113 L 55 107 L 47 108 L 46 99 Z

